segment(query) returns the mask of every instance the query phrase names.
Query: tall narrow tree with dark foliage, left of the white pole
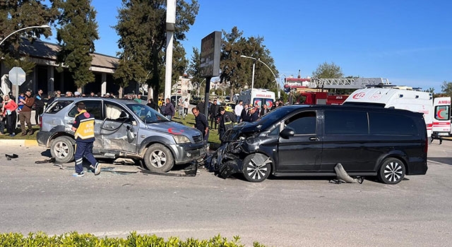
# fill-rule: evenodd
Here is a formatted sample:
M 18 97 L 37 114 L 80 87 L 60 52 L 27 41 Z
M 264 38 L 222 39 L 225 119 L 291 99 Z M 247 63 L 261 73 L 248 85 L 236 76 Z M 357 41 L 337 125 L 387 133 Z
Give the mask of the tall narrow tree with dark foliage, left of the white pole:
M 93 61 L 91 54 L 95 51 L 94 41 L 99 39 L 96 11 L 90 0 L 59 1 L 57 6 L 61 10 L 60 28 L 57 28 L 61 48 L 57 60 L 69 68 L 76 86 L 82 88 L 95 80 L 90 66 Z

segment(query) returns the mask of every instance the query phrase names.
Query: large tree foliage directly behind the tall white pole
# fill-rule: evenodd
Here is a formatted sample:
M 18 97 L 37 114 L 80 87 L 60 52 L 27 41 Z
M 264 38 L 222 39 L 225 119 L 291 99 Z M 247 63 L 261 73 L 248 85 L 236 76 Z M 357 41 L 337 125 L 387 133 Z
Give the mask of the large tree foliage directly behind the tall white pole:
M 185 51 L 177 42 L 186 38 L 189 26 L 194 24 L 198 14 L 198 1 L 177 1 L 176 23 L 174 25 L 173 69 L 180 73 L 186 67 Z M 166 1 L 165 0 L 122 0 L 117 16 L 118 23 L 114 29 L 119 35 L 118 47 L 122 50 L 118 56 L 121 63 L 115 75 L 121 83 L 133 80 L 146 83 L 153 88 L 154 98 L 163 91 L 165 56 L 167 40 L 166 32 Z M 184 65 L 185 63 L 185 65 Z M 131 67 L 131 69 L 124 68 Z

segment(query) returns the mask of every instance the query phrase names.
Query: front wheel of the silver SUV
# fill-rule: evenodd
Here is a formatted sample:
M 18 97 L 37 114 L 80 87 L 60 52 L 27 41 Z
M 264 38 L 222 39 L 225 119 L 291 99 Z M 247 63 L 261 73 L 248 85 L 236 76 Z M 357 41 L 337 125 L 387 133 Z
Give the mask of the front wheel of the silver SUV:
M 149 171 L 167 172 L 174 166 L 174 158 L 167 147 L 153 144 L 144 154 L 144 164 Z

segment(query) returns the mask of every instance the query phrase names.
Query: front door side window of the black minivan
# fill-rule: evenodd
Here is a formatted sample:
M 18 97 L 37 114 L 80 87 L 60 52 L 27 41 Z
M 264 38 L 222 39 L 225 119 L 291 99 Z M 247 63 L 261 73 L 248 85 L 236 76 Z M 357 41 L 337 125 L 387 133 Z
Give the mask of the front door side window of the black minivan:
M 301 112 L 285 121 L 286 128 L 295 131 L 295 135 L 316 133 L 316 112 Z

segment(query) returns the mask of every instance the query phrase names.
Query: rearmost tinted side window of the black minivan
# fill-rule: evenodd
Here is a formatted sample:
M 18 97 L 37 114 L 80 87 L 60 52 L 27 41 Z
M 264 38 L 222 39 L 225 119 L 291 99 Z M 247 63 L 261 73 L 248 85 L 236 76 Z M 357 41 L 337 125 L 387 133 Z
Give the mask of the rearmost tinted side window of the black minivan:
M 417 135 L 415 121 L 408 116 L 369 112 L 371 135 Z

